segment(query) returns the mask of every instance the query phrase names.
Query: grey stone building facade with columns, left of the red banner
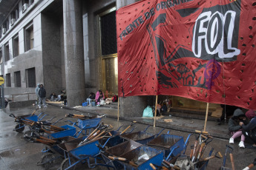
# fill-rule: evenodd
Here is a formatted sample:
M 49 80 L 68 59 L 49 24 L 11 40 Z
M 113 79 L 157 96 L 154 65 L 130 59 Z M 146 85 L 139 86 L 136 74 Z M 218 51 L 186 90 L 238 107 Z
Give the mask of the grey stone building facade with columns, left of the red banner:
M 116 95 L 115 13 L 134 2 L 2 0 L 0 76 L 5 80 L 4 95 L 33 93 L 36 84 L 44 84 L 47 96 L 66 89 L 69 106 L 81 105 L 90 92 L 99 89 Z M 121 109 L 131 112 L 128 105 L 136 102 L 136 114 L 138 107 L 145 108 L 145 98 L 121 98 Z

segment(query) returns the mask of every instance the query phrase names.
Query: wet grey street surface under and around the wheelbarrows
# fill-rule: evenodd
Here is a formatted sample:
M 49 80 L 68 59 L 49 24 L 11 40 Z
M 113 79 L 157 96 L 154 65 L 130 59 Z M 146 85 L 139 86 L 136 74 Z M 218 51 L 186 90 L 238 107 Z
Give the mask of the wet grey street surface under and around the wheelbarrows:
M 24 107 L 19 109 L 0 110 L 0 170 L 44 169 L 42 168 L 42 166 L 36 166 L 36 163 L 38 163 L 40 158 L 42 157 L 41 151 L 44 148 L 44 145 L 41 143 L 26 142 L 22 138 L 23 132 L 17 133 L 13 131 L 14 127 L 16 126 L 16 123 L 13 122 L 14 118 L 9 117 L 11 113 L 13 113 L 14 115 L 31 114 L 34 109 L 36 109 L 35 106 Z M 60 120 L 59 123 L 56 123 L 56 126 L 62 126 L 67 124 L 65 120 L 76 121 L 76 119 L 74 118 L 65 118 L 65 114 L 67 113 L 86 115 L 85 112 L 79 112 L 72 109 L 65 109 L 59 106 L 50 106 L 50 105 L 48 105 L 47 108 L 45 109 L 40 109 L 36 111 L 36 115 L 39 115 L 40 112 L 45 112 L 47 114 L 47 117 L 45 117 L 43 120 L 50 120 L 50 118 L 56 117 L 52 120 L 52 121 L 55 121 L 55 120 L 58 120 L 59 118 L 64 118 L 63 120 Z M 108 117 L 103 118 L 102 121 L 105 124 L 111 124 L 112 126 L 114 126 L 114 129 L 117 129 L 122 124 L 124 124 L 124 127 L 131 124 L 131 121 L 119 120 L 119 122 L 117 122 L 116 119 L 108 118 Z M 137 128 L 134 130 L 134 132 L 144 130 L 147 125 L 142 123 L 137 123 L 135 126 L 137 126 Z M 159 128 L 159 127 L 153 128 L 151 126 L 148 128 L 147 132 L 157 134 L 158 132 L 160 132 L 161 129 L 162 128 Z M 168 130 L 170 129 L 165 129 L 162 133 L 167 133 Z M 25 131 L 26 129 L 24 130 L 24 132 Z M 170 133 L 171 135 L 183 136 L 184 140 L 186 140 L 186 137 L 188 137 L 187 132 L 180 132 L 180 131 L 171 129 Z M 189 155 L 191 152 L 190 146 L 194 144 L 194 140 L 195 140 L 195 137 L 194 135 L 192 135 L 189 138 L 188 148 L 186 149 L 187 155 Z M 232 145 L 234 147 L 234 151 L 232 152 L 234 155 L 234 165 L 236 169 L 243 169 L 255 159 L 256 150 L 240 149 L 238 147 L 238 143 L 239 141 L 236 140 L 234 145 Z M 228 140 L 214 138 L 214 140 L 212 140 L 212 142 L 209 143 L 209 145 L 206 147 L 206 151 L 205 151 L 205 154 L 203 154 L 203 157 L 208 157 L 207 154 L 209 153 L 211 148 L 214 148 L 213 154 L 215 154 L 216 152 L 221 152 L 221 154 L 223 154 L 224 156 L 226 151 L 226 144 L 229 144 Z M 53 166 L 51 169 L 58 169 L 61 163 L 62 163 L 62 159 L 56 160 L 55 162 L 56 166 Z M 222 166 L 222 164 L 223 164 L 223 159 L 214 158 L 212 160 L 209 160 L 209 165 L 207 166 L 207 169 L 219 169 L 220 166 Z M 226 159 L 226 167 L 232 168 L 229 155 L 227 156 L 227 159 Z M 85 163 L 84 165 L 76 166 L 76 169 L 88 169 L 88 166 L 86 166 L 86 163 Z M 95 169 L 105 169 L 105 168 L 98 166 Z

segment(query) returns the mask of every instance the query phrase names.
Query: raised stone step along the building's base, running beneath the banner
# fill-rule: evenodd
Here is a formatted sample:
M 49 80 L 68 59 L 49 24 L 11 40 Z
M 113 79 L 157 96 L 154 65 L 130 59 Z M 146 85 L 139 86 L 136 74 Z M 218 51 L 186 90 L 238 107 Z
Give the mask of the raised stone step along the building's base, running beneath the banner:
M 69 106 L 62 105 L 62 102 L 47 101 L 47 103 L 53 106 L 65 107 L 66 109 L 73 109 L 73 110 L 87 112 L 87 113 L 96 114 L 96 115 L 107 114 L 109 118 L 117 119 L 117 115 L 118 115 L 118 109 L 116 109 L 117 106 L 115 105 L 69 107 Z M 190 116 L 188 114 L 184 115 L 182 113 L 175 113 L 174 115 L 171 115 L 171 116 L 164 115 L 162 117 L 157 117 L 156 126 L 167 128 L 167 129 L 174 129 L 182 132 L 190 132 L 190 133 L 193 133 L 195 130 L 203 131 L 205 126 L 205 116 L 199 119 L 195 117 L 191 118 L 191 115 Z M 189 116 L 190 118 L 186 118 L 186 116 Z M 128 121 L 136 120 L 138 123 L 148 124 L 152 126 L 154 125 L 154 118 L 142 118 L 142 113 L 138 113 L 138 118 L 119 117 L 119 119 L 128 120 Z M 229 139 L 230 135 L 229 135 L 228 124 L 223 123 L 222 125 L 218 125 L 215 120 L 216 118 L 211 118 L 211 117 L 208 118 L 206 122 L 206 132 L 209 132 L 213 137 Z

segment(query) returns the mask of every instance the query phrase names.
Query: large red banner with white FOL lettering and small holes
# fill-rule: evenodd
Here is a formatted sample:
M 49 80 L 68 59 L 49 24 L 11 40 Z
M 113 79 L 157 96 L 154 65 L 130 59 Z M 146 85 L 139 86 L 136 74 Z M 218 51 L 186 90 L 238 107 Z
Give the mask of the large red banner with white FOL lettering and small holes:
M 116 12 L 119 95 L 256 109 L 256 2 L 146 0 Z

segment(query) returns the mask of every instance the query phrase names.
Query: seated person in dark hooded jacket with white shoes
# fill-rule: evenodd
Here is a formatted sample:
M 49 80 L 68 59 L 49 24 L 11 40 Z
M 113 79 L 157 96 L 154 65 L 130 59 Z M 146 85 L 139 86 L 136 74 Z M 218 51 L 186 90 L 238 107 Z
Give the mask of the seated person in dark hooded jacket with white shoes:
M 248 123 L 246 120 L 246 115 L 244 115 L 241 109 L 234 110 L 234 115 L 229 119 L 229 132 L 231 132 L 232 137 L 229 139 L 229 143 L 234 144 L 234 139 L 237 137 L 241 137 L 239 147 L 245 148 L 244 140 L 246 137 L 243 135 L 242 126 L 240 126 L 240 122 Z

